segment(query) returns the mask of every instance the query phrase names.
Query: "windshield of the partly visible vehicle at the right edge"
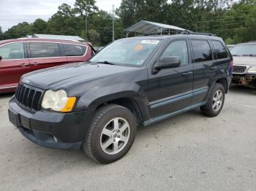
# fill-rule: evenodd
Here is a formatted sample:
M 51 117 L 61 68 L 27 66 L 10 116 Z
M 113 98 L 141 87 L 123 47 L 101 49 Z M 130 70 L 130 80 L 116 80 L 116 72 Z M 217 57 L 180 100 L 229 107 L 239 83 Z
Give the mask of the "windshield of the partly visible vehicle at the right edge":
M 238 44 L 230 52 L 235 56 L 256 56 L 256 44 Z

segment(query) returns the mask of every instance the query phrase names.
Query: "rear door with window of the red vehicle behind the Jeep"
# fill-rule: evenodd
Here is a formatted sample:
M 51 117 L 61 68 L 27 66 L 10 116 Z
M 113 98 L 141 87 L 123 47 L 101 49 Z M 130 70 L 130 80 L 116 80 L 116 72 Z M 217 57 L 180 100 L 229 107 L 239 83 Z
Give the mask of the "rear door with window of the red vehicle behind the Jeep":
M 45 69 L 67 63 L 67 58 L 61 55 L 59 43 L 28 42 L 29 62 L 33 70 Z

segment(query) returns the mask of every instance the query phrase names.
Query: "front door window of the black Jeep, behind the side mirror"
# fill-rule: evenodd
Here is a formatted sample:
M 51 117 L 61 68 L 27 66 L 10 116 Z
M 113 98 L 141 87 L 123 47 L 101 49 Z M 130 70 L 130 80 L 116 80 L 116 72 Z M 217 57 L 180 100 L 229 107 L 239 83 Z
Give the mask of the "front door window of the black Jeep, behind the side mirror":
M 161 58 L 167 56 L 178 56 L 181 60 L 181 65 L 188 63 L 188 53 L 187 53 L 187 42 L 186 40 L 178 40 L 171 42 L 162 53 Z

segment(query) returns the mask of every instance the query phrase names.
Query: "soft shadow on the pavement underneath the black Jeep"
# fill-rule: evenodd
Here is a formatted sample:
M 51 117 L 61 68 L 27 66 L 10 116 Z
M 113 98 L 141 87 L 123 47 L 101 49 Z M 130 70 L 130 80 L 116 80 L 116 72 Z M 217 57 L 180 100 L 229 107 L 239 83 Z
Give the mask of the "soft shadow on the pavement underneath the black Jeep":
M 190 119 L 200 117 L 202 117 L 200 109 L 193 109 L 192 111 L 186 112 L 184 114 L 178 114 L 174 117 L 170 117 L 167 120 L 156 122 L 153 125 L 148 125 L 146 127 L 139 126 L 138 133 L 135 139 L 135 144 L 132 146 L 131 151 L 128 152 L 126 156 L 124 156 L 124 160 L 118 160 L 116 161 L 116 163 L 123 163 L 126 160 L 129 160 L 129 158 L 132 157 L 134 153 L 138 152 L 141 142 L 136 143 L 136 141 L 146 139 L 150 141 L 152 137 L 153 139 L 157 140 L 159 133 L 165 134 L 165 131 L 170 128 L 182 128 L 184 123 L 189 122 Z M 19 133 L 18 130 L 17 133 Z M 91 158 L 83 152 L 82 148 L 76 151 L 49 149 L 45 147 L 40 147 L 26 139 L 26 141 L 24 141 L 24 139 L 25 138 L 18 141 L 20 142 L 18 147 L 20 147 L 20 150 L 24 150 L 23 155 L 26 155 L 26 158 L 30 158 L 33 160 L 33 168 L 37 168 L 38 163 L 44 164 L 44 166 L 50 165 L 51 168 L 57 168 L 59 165 L 62 165 L 63 170 L 65 170 L 64 166 L 72 166 L 72 168 L 80 168 L 81 166 L 90 166 L 90 168 L 97 168 L 102 166 L 102 164 L 91 160 Z M 110 165 L 115 165 L 116 163 L 111 163 Z

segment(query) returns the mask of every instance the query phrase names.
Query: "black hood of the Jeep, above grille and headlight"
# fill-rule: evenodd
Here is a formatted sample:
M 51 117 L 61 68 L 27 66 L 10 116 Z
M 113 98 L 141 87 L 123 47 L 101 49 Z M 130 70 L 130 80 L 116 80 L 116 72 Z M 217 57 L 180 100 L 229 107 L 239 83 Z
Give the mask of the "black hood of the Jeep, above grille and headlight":
M 109 77 L 138 68 L 94 63 L 73 63 L 65 66 L 42 69 L 23 75 L 21 81 L 42 89 L 68 89 L 95 79 Z

